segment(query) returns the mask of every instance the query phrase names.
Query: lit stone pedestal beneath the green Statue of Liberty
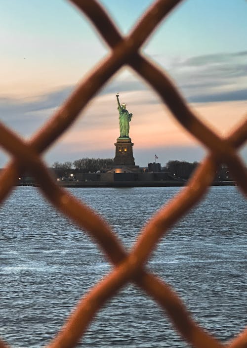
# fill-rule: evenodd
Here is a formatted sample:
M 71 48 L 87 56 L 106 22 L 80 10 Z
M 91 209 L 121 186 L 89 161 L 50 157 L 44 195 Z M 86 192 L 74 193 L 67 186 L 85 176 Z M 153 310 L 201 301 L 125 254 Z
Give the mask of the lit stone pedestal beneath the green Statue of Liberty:
M 114 158 L 114 166 L 135 166 L 133 157 L 133 143 L 130 138 L 118 138 L 115 143 L 116 155 Z

